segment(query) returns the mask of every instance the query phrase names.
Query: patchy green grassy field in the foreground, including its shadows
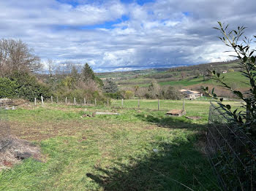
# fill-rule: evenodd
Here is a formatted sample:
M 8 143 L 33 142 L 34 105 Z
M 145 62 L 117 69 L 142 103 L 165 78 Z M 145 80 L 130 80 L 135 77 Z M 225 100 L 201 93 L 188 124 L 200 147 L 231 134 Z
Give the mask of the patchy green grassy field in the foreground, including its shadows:
M 236 104 L 231 102 L 230 104 Z M 0 172 L 0 190 L 219 190 L 202 152 L 208 101 L 113 101 L 105 106 L 27 106 L 9 112 L 12 134 L 34 142 L 45 161 Z M 86 110 L 86 111 L 85 111 Z M 96 111 L 120 115 L 84 117 Z M 154 150 L 153 150 L 154 149 Z M 155 152 L 157 149 L 157 152 Z M 177 183 L 180 182 L 180 183 Z

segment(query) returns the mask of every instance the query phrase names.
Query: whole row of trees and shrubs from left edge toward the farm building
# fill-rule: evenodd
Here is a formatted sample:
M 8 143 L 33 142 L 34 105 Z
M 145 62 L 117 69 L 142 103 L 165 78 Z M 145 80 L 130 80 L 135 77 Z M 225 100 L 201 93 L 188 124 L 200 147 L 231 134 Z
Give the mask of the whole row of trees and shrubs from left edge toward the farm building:
M 47 72 L 43 71 L 43 65 L 29 48 L 28 44 L 21 40 L 0 40 L 0 98 L 25 98 L 33 101 L 34 98 L 77 98 L 104 103 L 110 98 L 172 98 L 181 96 L 175 88 L 159 87 L 153 80 L 148 87 L 139 87 L 119 90 L 118 85 L 112 79 L 104 82 L 94 74 L 88 63 L 77 64 L 70 61 L 56 63 L 48 59 Z

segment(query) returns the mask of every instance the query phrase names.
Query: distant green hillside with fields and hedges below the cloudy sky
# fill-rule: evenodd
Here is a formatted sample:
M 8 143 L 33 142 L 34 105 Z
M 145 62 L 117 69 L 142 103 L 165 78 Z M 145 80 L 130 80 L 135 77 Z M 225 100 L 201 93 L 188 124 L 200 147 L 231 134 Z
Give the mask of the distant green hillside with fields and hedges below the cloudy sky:
M 216 87 L 217 91 L 228 92 L 219 87 L 218 83 L 208 77 L 208 70 L 215 70 L 225 77 L 226 82 L 233 88 L 245 91 L 248 89 L 246 79 L 239 72 L 238 60 L 204 63 L 195 66 L 181 66 L 170 69 L 148 69 L 138 71 L 119 71 L 97 74 L 102 78 L 113 78 L 121 89 L 131 89 L 135 85 L 148 87 L 153 79 L 161 86 L 176 86 L 191 90 L 200 90 L 201 86 Z M 228 95 L 229 96 L 229 95 Z M 230 95 L 231 96 L 231 95 Z

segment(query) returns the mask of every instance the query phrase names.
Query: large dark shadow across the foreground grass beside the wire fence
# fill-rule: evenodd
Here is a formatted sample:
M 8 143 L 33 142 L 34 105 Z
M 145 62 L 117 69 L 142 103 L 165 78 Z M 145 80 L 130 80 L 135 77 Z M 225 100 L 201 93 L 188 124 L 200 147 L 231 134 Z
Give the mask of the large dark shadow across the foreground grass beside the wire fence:
M 208 160 L 194 147 L 198 139 L 195 133 L 187 133 L 153 141 L 151 148 L 157 150 L 86 175 L 104 190 L 219 190 Z

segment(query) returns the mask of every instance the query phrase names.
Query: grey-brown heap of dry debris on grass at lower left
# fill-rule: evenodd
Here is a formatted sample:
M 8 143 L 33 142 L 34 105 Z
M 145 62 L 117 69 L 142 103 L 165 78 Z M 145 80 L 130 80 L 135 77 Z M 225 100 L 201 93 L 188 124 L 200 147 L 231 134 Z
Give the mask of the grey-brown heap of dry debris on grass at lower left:
M 39 147 L 29 141 L 12 136 L 9 146 L 0 152 L 0 171 L 20 163 L 21 160 L 32 157 L 44 161 Z

